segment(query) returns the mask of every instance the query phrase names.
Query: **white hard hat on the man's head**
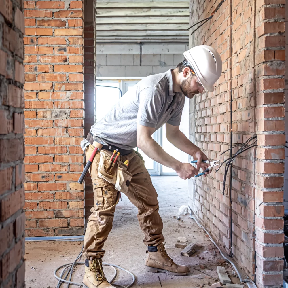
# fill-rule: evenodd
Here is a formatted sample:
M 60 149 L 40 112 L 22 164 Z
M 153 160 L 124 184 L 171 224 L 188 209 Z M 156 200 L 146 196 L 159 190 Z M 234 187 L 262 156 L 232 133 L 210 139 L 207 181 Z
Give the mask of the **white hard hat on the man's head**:
M 184 57 L 188 62 L 187 66 L 191 66 L 203 87 L 213 92 L 214 83 L 222 73 L 219 53 L 211 46 L 199 45 L 185 51 Z

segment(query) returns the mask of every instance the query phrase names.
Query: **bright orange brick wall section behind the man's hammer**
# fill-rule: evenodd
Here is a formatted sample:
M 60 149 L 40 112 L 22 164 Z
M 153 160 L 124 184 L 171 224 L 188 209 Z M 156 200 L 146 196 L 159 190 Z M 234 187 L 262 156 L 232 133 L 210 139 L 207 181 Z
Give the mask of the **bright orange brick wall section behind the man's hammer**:
M 26 236 L 84 227 L 82 1 L 25 1 Z

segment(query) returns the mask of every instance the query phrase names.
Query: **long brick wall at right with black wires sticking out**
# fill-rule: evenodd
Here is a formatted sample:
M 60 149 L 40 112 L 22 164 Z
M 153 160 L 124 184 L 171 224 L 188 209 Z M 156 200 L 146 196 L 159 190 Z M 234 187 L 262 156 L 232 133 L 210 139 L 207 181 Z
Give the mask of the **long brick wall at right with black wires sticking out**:
M 210 16 L 219 2 L 191 1 L 190 23 Z M 253 279 L 257 266 L 258 287 L 283 281 L 284 4 L 226 0 L 190 37 L 190 46 L 211 45 L 223 61 L 215 91 L 191 103 L 191 139 L 214 160 L 229 157 L 220 153 L 230 147 L 230 129 L 233 145 L 252 135 L 258 138 L 257 149 L 233 162 L 231 191 L 228 173 L 222 195 L 221 168 L 191 183 L 191 202 L 199 219 Z

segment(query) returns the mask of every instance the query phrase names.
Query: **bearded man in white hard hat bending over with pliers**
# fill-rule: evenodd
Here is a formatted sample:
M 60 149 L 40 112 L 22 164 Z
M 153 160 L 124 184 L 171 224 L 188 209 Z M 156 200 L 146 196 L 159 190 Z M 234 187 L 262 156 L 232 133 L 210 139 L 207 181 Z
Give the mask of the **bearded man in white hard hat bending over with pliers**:
M 184 52 L 184 57 L 183 63 L 175 70 L 170 69 L 166 73 L 142 79 L 103 119 L 91 127 L 87 139 L 81 142 L 86 159 L 90 158 L 94 150 L 92 135 L 97 135 L 108 143 L 102 149 L 109 155 L 112 155 L 114 149 L 118 149 L 121 160 L 129 160 L 128 171 L 133 176 L 126 196 L 138 208 L 139 225 L 145 235 L 144 243 L 148 246 L 145 269 L 172 275 L 186 275 L 189 268 L 174 263 L 165 251 L 157 193 L 141 157 L 133 148 L 139 147 L 154 161 L 174 169 L 182 179 L 194 177 L 200 168 L 208 168 L 209 164 L 201 162 L 207 160 L 207 157 L 179 130 L 179 124 L 185 96 L 191 99 L 205 88 L 208 91 L 214 90 L 213 84 L 222 72 L 221 57 L 215 49 L 205 45 Z M 168 141 L 197 159 L 197 168 L 190 163 L 179 162 L 153 140 L 152 134 L 165 123 Z M 115 190 L 114 185 L 99 177 L 99 159 L 100 152 L 97 151 L 90 167 L 94 207 L 91 209 L 84 238 L 85 288 L 113 287 L 103 273 L 102 257 L 105 251 L 102 248 L 112 229 L 120 192 Z

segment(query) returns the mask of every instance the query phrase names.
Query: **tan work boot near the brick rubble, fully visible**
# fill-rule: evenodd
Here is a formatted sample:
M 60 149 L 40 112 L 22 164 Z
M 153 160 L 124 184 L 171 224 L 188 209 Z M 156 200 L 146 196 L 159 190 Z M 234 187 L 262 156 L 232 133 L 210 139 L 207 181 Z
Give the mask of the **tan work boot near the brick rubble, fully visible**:
M 168 256 L 164 245 L 148 246 L 148 257 L 145 270 L 149 272 L 165 272 L 171 275 L 187 275 L 190 271 L 185 265 L 178 265 Z

